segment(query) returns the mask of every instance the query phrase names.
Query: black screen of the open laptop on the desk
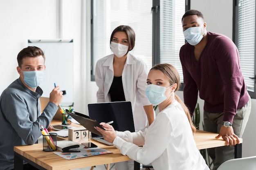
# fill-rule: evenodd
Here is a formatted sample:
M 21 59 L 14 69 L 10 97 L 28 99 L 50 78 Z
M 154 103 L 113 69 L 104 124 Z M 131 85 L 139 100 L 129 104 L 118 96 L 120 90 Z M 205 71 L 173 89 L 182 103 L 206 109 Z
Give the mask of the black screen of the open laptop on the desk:
M 89 116 L 101 122 L 114 121 L 115 130 L 135 132 L 131 102 L 106 102 L 88 104 Z M 97 136 L 92 133 L 92 137 Z

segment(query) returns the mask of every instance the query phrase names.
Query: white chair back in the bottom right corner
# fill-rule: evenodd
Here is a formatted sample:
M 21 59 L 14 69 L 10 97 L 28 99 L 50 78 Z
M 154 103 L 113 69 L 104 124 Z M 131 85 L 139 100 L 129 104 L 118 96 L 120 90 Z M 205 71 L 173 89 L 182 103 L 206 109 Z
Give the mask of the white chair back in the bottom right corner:
M 223 162 L 217 170 L 256 170 L 256 156 L 230 159 Z

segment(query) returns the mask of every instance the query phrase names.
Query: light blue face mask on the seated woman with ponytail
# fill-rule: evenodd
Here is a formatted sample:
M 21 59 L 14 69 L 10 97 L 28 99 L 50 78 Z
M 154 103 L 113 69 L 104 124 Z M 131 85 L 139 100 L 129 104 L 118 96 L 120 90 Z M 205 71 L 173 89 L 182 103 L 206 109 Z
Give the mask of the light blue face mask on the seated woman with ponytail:
M 173 86 L 173 85 L 171 85 L 171 86 Z M 170 87 L 168 87 L 168 88 L 170 88 Z M 151 104 L 153 104 L 153 106 L 156 106 L 156 105 L 164 102 L 164 100 L 167 99 L 167 97 L 165 96 L 166 89 L 167 88 L 163 87 L 163 86 L 157 86 L 155 84 L 148 84 L 146 87 L 146 96 L 148 97 L 149 102 Z

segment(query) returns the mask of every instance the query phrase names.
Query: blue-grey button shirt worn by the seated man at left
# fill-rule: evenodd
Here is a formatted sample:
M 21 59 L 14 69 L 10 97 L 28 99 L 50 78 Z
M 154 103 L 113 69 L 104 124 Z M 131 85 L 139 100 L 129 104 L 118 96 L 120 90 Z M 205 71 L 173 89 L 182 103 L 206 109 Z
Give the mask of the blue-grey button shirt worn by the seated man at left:
M 13 146 L 33 145 L 42 135 L 40 125 L 47 128 L 58 106 L 49 102 L 41 112 L 40 87 L 30 91 L 16 79 L 0 97 L 0 170 L 10 170 L 14 166 Z

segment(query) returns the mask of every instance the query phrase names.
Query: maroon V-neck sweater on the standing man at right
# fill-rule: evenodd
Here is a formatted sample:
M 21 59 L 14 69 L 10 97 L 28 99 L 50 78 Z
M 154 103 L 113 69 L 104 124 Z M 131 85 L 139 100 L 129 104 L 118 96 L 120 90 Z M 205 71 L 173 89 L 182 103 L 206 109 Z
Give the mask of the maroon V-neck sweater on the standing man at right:
M 199 61 L 195 60 L 194 46 L 186 43 L 180 49 L 184 103 L 193 115 L 199 91 L 205 111 L 224 112 L 223 121 L 233 122 L 236 110 L 249 101 L 238 49 L 225 35 L 207 32 L 207 38 Z

